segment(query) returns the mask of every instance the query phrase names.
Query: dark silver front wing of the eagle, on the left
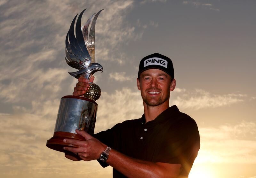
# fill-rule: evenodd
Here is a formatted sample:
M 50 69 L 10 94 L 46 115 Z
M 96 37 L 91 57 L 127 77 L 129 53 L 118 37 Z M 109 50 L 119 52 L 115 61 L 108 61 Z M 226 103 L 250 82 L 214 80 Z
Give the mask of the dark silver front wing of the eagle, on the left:
M 66 36 L 66 57 L 65 60 L 67 64 L 73 68 L 76 68 L 78 70 L 84 69 L 92 61 L 91 56 L 88 53 L 88 50 L 86 49 L 85 43 L 84 43 L 84 37 L 81 30 L 81 19 L 83 16 L 83 13 L 86 9 L 84 9 L 80 15 L 77 18 L 78 14 L 76 14 L 75 18 L 73 19 L 68 34 Z M 74 26 L 76 21 L 76 36 L 74 33 Z

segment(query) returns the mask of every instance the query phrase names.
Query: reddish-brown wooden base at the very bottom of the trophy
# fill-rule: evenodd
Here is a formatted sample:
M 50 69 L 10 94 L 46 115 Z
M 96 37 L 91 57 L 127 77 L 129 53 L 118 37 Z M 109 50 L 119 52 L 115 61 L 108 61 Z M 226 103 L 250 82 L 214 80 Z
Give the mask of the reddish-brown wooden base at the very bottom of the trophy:
M 85 141 L 85 138 L 81 135 L 70 133 L 70 132 L 54 132 L 53 137 L 50 138 L 50 140 L 47 140 L 46 146 L 48 148 L 51 148 L 52 150 L 60 151 L 60 152 L 67 152 L 63 150 L 63 147 L 75 147 L 78 148 L 78 146 L 70 144 L 70 143 L 64 143 L 63 139 L 76 139 Z

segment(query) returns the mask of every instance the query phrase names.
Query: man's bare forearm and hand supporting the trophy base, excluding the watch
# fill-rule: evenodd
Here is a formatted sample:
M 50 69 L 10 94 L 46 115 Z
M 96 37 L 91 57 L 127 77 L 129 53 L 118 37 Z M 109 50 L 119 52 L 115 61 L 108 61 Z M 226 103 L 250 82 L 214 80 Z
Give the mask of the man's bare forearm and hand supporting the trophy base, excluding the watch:
M 99 159 L 100 153 L 106 149 L 107 145 L 101 143 L 85 131 L 76 130 L 76 132 L 84 136 L 86 141 L 64 139 L 63 141 L 66 143 L 79 146 L 79 148 L 64 147 L 64 150 L 78 153 L 79 158 L 84 161 Z M 154 163 L 134 159 L 114 149 L 111 149 L 106 163 L 127 177 L 174 178 L 179 176 L 181 167 L 180 164 Z

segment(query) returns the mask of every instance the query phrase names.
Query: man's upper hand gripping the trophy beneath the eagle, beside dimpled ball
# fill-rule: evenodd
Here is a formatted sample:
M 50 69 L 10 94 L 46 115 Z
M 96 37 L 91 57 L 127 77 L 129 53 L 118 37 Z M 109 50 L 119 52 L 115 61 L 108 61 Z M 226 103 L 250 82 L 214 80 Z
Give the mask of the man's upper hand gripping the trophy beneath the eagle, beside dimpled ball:
M 86 92 L 86 90 L 89 87 L 89 82 L 93 82 L 94 76 L 91 76 L 90 80 L 88 81 L 84 77 L 79 77 L 78 78 L 78 83 L 76 83 L 76 87 L 74 88 L 73 95 L 74 96 L 82 96 Z

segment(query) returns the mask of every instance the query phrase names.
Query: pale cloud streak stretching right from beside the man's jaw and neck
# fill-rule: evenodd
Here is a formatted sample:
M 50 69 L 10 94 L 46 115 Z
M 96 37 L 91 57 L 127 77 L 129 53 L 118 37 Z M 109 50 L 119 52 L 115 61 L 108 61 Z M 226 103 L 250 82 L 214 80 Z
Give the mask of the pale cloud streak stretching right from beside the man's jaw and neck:
M 176 90 L 176 89 L 175 89 Z M 174 90 L 174 91 L 175 91 Z M 225 95 L 217 95 L 211 94 L 207 91 L 202 89 L 195 89 L 195 90 L 185 90 L 180 91 L 178 89 L 179 95 L 174 99 L 171 99 L 172 104 L 178 105 L 180 108 L 183 109 L 202 109 L 202 108 L 215 108 L 220 106 L 227 106 L 230 104 L 235 104 L 239 102 L 243 102 L 246 95 L 244 94 L 225 94 Z M 172 93 L 171 93 L 172 95 Z

